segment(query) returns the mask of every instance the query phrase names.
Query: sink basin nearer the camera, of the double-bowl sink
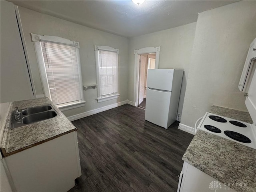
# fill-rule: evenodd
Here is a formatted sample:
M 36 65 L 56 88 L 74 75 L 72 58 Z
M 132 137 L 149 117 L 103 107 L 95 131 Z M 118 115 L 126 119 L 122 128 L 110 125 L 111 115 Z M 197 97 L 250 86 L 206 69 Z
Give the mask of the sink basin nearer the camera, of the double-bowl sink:
M 28 115 L 22 118 L 23 124 L 31 124 L 38 121 L 51 119 L 57 116 L 57 113 L 55 111 L 45 111 L 40 113 L 35 113 L 32 115 Z

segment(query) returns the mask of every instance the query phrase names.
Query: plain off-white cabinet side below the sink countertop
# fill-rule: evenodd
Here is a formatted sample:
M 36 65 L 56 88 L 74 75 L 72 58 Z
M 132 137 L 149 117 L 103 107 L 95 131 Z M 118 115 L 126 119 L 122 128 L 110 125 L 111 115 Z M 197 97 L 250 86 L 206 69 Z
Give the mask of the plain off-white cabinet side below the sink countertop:
M 65 192 L 81 176 L 76 131 L 3 160 L 13 191 Z

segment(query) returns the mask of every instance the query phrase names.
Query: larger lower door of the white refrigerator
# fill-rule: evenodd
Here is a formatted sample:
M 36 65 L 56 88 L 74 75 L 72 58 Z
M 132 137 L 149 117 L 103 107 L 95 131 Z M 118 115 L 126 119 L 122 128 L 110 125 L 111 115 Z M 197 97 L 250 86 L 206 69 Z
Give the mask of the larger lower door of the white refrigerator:
M 171 93 L 147 88 L 145 120 L 167 129 Z

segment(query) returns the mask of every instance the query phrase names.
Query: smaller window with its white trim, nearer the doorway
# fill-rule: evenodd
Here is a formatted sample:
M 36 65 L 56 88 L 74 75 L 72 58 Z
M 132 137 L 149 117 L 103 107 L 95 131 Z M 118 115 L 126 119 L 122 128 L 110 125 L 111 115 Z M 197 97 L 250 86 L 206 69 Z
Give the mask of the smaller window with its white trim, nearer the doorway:
M 118 49 L 95 46 L 98 102 L 118 98 Z

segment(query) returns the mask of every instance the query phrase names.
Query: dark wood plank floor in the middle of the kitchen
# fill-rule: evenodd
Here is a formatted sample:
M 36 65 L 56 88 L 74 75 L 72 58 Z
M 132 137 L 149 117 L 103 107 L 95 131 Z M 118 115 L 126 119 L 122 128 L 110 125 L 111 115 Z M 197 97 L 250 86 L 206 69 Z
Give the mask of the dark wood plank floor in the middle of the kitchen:
M 144 120 L 123 105 L 72 123 L 78 128 L 82 176 L 69 192 L 176 191 L 182 155 L 193 136 Z

